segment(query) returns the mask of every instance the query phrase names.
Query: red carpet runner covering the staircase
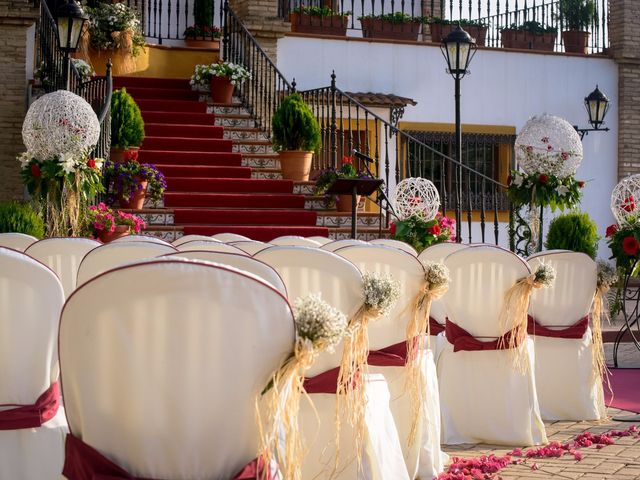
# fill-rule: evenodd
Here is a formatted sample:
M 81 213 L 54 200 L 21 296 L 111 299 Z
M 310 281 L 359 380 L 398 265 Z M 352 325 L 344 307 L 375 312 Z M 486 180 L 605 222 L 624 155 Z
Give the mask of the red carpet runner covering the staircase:
M 165 207 L 174 209 L 184 234 L 232 232 L 261 241 L 328 235 L 316 226 L 316 212 L 305 210 L 304 195 L 293 193 L 293 182 L 251 178 L 188 80 L 117 77 L 114 86 L 126 87 L 140 106 L 147 137 L 139 159 L 167 177 Z

